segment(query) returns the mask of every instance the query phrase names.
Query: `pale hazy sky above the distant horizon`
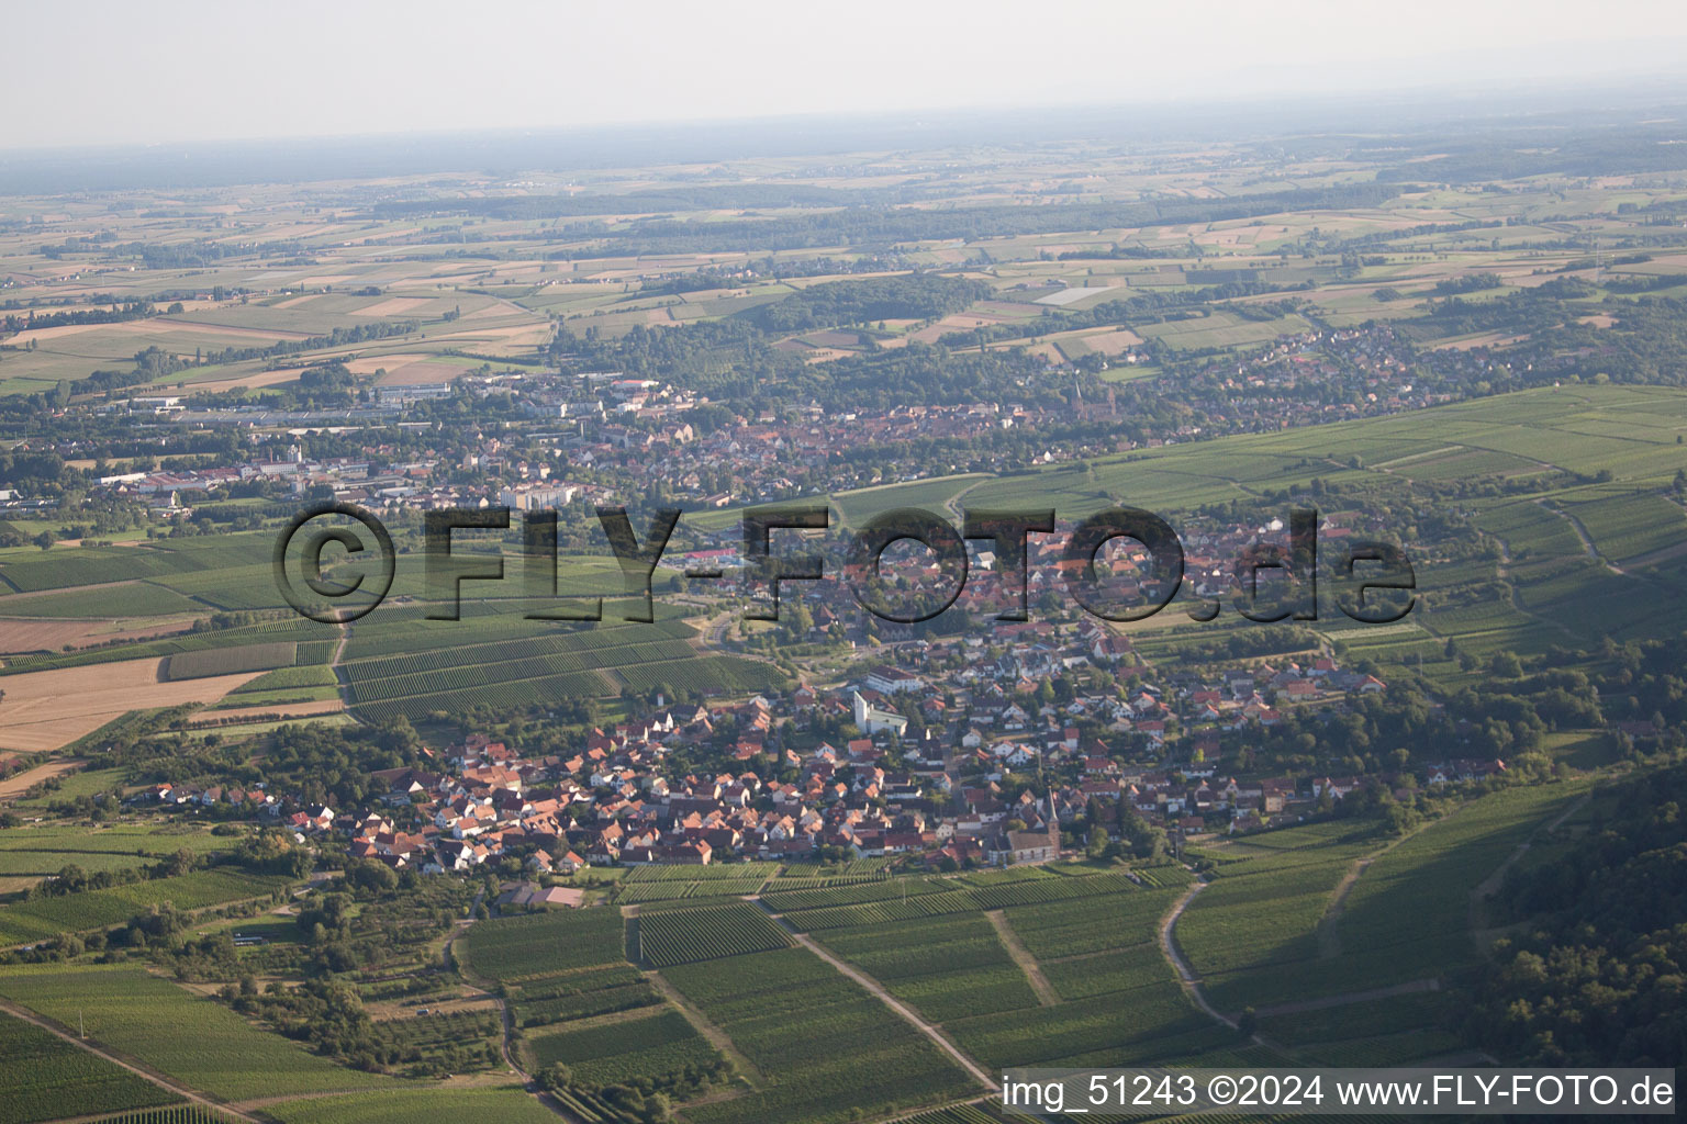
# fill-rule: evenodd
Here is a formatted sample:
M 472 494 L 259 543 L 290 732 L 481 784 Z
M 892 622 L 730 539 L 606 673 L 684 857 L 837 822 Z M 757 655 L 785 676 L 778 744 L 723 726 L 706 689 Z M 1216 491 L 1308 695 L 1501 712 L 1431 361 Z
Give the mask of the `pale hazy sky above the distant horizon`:
M 1680 0 L 10 3 L 0 148 L 1680 72 Z

